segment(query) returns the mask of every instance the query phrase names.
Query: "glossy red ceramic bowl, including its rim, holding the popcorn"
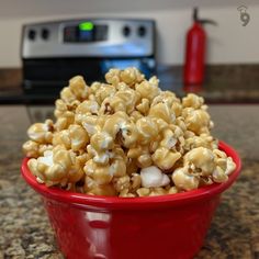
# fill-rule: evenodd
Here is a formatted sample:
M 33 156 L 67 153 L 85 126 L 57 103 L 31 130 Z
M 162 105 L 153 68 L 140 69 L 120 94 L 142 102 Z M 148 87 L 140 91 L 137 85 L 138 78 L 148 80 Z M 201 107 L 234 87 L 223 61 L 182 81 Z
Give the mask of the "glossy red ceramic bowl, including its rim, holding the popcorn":
M 93 196 L 40 184 L 22 162 L 25 181 L 43 196 L 66 258 L 184 259 L 201 248 L 219 195 L 240 172 L 240 158 L 228 145 L 219 148 L 236 162 L 224 183 L 148 198 Z

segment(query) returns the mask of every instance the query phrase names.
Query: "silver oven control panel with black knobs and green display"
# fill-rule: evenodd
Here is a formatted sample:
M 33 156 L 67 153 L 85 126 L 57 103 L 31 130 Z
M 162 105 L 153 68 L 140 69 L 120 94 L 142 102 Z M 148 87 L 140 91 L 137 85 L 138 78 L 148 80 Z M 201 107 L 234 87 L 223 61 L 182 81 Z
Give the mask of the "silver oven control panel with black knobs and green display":
M 21 56 L 144 57 L 155 53 L 155 22 L 133 19 L 80 19 L 26 24 Z

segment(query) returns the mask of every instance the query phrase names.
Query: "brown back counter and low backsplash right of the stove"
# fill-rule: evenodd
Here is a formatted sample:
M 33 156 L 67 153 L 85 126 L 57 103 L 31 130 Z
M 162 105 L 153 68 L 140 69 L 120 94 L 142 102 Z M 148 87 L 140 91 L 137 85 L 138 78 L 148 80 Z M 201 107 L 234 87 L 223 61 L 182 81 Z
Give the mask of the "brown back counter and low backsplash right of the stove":
M 183 86 L 181 66 L 158 66 L 157 72 L 161 88 L 179 97 L 196 92 L 207 103 L 259 103 L 259 65 L 206 66 L 202 86 Z

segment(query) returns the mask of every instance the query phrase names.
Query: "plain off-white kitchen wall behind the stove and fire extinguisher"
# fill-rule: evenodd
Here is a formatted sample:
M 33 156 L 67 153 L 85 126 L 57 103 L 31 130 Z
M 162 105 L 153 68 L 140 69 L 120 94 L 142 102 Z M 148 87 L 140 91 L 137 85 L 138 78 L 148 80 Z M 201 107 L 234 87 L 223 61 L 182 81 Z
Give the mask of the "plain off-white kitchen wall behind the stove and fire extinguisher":
M 74 1 L 71 1 L 71 4 Z M 20 3 L 21 4 L 21 3 Z M 206 25 L 209 34 L 207 64 L 255 64 L 259 63 L 259 4 L 248 5 L 250 22 L 243 26 L 237 7 L 204 7 L 202 18 L 218 22 L 218 26 Z M 243 3 L 244 4 L 244 3 Z M 20 67 L 21 27 L 24 23 L 67 18 L 122 16 L 151 18 L 157 21 L 158 61 L 182 65 L 184 57 L 184 35 L 191 25 L 191 8 L 167 10 L 124 11 L 104 13 L 77 13 L 33 16 L 0 18 L 0 67 Z

